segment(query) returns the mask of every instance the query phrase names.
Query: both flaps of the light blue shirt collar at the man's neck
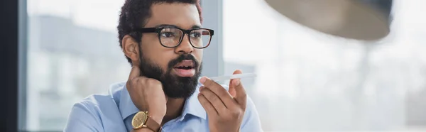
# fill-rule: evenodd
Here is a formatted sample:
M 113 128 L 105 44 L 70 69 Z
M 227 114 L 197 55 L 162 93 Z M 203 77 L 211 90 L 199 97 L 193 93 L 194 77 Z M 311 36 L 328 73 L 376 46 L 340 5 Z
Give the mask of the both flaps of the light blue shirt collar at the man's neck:
M 201 86 L 202 84 L 199 82 L 197 84 L 194 94 L 192 94 L 192 96 L 185 101 L 182 110 L 182 116 L 178 117 L 180 121 L 182 121 L 187 114 L 200 117 L 204 120 L 206 119 L 206 111 L 200 104 L 200 101 L 198 101 L 198 93 L 200 93 L 199 89 Z M 124 84 L 123 89 L 121 91 L 119 109 L 123 120 L 133 114 L 136 114 L 139 111 L 139 109 L 133 104 L 133 101 L 131 101 L 129 91 L 127 91 L 126 88 L 126 84 Z

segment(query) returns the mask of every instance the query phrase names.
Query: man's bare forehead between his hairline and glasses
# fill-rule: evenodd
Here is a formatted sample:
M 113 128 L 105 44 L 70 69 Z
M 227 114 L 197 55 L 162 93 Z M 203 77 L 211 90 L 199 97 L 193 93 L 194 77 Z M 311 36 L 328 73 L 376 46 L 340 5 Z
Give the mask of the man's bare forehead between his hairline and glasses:
M 151 17 L 148 18 L 146 28 L 162 24 L 175 25 L 190 29 L 192 26 L 201 26 L 200 15 L 195 4 L 153 4 Z

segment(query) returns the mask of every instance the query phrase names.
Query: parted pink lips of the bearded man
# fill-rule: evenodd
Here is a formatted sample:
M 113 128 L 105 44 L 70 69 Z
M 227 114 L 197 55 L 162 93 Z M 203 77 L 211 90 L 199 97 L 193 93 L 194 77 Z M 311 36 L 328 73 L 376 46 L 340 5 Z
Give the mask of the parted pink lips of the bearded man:
M 179 62 L 173 67 L 173 70 L 175 70 L 176 75 L 180 77 L 192 77 L 195 75 L 195 66 L 192 60 L 183 60 Z

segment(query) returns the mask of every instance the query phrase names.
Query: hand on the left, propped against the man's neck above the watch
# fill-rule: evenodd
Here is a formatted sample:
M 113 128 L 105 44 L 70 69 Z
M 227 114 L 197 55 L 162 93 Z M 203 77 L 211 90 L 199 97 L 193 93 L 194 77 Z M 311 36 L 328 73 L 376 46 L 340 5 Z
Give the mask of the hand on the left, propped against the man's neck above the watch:
M 157 79 L 141 76 L 139 67 L 133 66 L 126 84 L 131 101 L 140 111 L 148 111 L 148 115 L 161 124 L 167 109 L 163 85 Z

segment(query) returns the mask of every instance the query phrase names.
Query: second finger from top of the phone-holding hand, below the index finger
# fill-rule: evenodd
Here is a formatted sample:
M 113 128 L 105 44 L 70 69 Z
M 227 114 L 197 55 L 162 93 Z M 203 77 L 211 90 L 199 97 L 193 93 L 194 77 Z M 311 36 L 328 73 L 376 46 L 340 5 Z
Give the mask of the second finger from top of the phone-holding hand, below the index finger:
M 210 89 L 205 87 L 200 87 L 200 93 L 213 105 L 217 113 L 224 113 L 226 111 L 226 106 L 219 97 L 214 94 Z

